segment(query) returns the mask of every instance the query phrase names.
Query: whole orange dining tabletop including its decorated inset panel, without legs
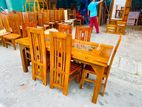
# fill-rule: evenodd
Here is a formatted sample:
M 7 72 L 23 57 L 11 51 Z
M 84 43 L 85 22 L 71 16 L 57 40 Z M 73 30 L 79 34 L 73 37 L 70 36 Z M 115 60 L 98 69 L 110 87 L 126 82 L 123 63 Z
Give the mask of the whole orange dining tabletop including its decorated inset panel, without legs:
M 47 37 L 47 39 L 48 38 L 49 37 Z M 45 39 L 45 41 L 46 48 L 48 51 L 50 51 L 50 40 Z M 16 42 L 26 47 L 30 46 L 30 40 L 28 37 L 18 39 Z M 112 51 L 113 46 L 110 45 L 98 44 L 95 42 L 85 42 L 76 39 L 72 40 L 72 58 L 80 60 L 84 63 L 97 64 L 107 67 Z

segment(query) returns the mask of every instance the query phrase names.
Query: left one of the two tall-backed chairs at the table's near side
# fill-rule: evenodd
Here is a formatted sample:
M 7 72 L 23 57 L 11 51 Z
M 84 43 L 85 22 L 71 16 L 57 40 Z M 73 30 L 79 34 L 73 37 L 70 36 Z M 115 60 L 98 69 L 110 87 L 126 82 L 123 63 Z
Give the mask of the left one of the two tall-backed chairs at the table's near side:
M 45 35 L 43 29 L 28 28 L 30 38 L 30 53 L 32 61 L 32 78 L 39 79 L 47 85 L 47 62 Z

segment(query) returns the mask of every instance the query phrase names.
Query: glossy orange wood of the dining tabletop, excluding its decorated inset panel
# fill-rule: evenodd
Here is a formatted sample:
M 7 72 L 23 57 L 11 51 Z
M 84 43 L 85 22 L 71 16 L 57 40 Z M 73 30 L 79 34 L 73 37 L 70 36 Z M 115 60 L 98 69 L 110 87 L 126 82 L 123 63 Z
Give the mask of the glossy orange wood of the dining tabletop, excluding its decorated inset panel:
M 46 35 L 45 40 L 46 40 L 46 48 L 48 51 L 50 51 L 49 35 Z M 18 39 L 18 40 L 16 40 L 16 42 L 20 45 L 24 45 L 27 47 L 30 46 L 29 38 Z M 86 44 L 86 45 L 91 45 L 91 46 L 96 46 L 96 47 L 99 46 L 99 44 L 97 44 L 95 42 L 85 42 L 85 41 L 74 39 L 73 45 L 76 43 L 77 44 Z M 107 66 L 108 61 L 109 61 L 109 57 L 111 56 L 113 46 L 101 44 L 100 47 L 102 48 L 102 50 L 101 50 L 101 53 L 99 54 L 99 52 L 97 53 L 96 51 L 93 51 L 93 50 L 88 51 L 88 50 L 79 49 L 79 48 L 76 48 L 73 46 L 72 47 L 72 57 L 75 59 L 78 59 L 78 60 L 85 61 L 87 63 L 93 63 L 93 64 L 98 64 L 101 66 Z

